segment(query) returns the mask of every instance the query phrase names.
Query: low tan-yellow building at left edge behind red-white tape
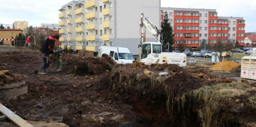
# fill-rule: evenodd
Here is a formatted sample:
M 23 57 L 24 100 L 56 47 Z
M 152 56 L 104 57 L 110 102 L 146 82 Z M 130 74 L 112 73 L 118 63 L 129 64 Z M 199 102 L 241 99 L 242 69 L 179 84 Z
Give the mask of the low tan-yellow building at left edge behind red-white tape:
M 12 32 L 13 30 L 13 32 Z M 22 31 L 21 29 L 0 29 L 0 38 L 7 38 L 7 39 L 11 39 L 12 36 L 13 38 L 15 39 L 16 35 L 19 36 L 19 33 L 22 34 Z M 13 33 L 13 35 L 12 35 Z M 12 41 L 4 41 L 3 43 L 4 45 L 11 45 L 12 44 Z

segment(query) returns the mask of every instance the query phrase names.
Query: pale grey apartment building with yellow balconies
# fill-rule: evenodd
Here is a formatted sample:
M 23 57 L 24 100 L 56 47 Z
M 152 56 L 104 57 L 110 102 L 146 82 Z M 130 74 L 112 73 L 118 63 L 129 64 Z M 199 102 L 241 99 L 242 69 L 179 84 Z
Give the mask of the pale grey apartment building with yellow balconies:
M 59 10 L 61 47 L 98 51 L 99 46 L 130 48 L 139 54 L 140 15 L 144 13 L 160 28 L 160 0 L 79 0 Z M 147 31 L 147 41 L 155 37 Z

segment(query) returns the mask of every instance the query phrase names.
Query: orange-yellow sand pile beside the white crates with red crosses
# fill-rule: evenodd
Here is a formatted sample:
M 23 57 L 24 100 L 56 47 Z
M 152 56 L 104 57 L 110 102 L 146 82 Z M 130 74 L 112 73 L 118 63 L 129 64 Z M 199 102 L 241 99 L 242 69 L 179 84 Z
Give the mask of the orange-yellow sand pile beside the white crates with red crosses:
M 211 70 L 220 70 L 220 68 L 221 68 L 221 63 L 222 63 L 222 62 L 219 62 L 219 63 L 213 65 L 210 69 L 211 69 Z M 224 60 L 221 70 L 223 70 L 223 71 L 230 71 L 232 68 L 235 68 L 235 67 L 237 67 L 237 66 L 239 66 L 239 65 L 241 66 L 240 63 Z

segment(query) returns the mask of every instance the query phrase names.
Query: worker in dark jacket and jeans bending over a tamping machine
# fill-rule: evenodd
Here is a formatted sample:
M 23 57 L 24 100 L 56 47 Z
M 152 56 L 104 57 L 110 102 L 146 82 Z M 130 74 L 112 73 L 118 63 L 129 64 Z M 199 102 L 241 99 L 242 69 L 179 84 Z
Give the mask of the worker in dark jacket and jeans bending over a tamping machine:
M 41 63 L 40 69 L 37 73 L 38 75 L 45 75 L 47 73 L 47 70 L 50 65 L 50 54 L 53 54 L 54 43 L 59 38 L 60 38 L 59 34 L 55 34 L 53 36 L 49 36 L 45 40 L 42 48 L 40 49 L 41 56 L 42 56 L 41 57 L 42 63 Z

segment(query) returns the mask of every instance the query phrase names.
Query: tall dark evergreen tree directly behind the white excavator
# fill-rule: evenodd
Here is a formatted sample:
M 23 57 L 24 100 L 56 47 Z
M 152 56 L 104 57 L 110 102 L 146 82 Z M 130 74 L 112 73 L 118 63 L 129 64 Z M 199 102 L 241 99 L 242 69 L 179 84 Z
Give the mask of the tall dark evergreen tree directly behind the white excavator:
M 163 24 L 161 25 L 161 32 L 164 32 L 164 42 L 163 45 L 165 46 L 169 43 L 169 51 L 173 50 L 174 38 L 173 38 L 173 29 L 171 27 L 171 23 L 169 22 L 168 13 L 167 11 L 164 14 Z M 168 49 L 168 47 L 167 47 Z

